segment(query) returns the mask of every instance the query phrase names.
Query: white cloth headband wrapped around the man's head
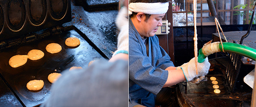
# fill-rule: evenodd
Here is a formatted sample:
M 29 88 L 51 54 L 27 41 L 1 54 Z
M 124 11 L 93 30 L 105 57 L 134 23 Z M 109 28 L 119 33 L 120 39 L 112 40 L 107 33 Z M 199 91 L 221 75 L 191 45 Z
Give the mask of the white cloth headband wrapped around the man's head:
M 168 10 L 169 2 L 166 3 L 130 3 L 129 15 L 132 12 L 142 12 L 149 15 L 163 14 Z

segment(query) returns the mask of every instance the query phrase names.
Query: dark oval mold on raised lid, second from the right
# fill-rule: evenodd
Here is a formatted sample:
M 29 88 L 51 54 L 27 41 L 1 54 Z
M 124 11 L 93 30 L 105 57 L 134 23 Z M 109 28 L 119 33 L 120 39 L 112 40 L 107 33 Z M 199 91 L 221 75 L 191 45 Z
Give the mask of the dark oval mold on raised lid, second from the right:
M 31 23 L 39 26 L 46 19 L 47 5 L 46 0 L 28 0 L 27 12 Z

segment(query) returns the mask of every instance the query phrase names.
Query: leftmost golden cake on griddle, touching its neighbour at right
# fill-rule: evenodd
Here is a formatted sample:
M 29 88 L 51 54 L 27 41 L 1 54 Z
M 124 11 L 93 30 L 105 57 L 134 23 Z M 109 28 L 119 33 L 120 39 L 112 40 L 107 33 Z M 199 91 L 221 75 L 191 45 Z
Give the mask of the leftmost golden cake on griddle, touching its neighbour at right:
M 17 68 L 17 67 L 23 66 L 24 64 L 27 63 L 28 58 L 29 58 L 29 56 L 27 56 L 27 55 L 12 56 L 9 60 L 9 65 L 12 68 Z

